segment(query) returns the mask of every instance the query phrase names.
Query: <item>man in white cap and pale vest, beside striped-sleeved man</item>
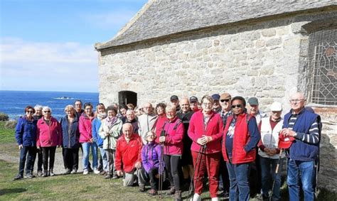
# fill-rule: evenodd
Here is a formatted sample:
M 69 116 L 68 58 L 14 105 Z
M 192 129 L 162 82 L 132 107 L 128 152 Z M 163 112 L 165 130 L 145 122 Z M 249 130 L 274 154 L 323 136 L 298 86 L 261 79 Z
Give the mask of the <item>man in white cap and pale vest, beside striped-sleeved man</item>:
M 282 104 L 274 102 L 270 106 L 270 117 L 264 117 L 259 124 L 261 140 L 259 146 L 259 158 L 261 167 L 262 195 L 261 200 L 269 200 L 270 183 L 269 178 L 274 178 L 274 190 L 272 192 L 272 200 L 281 200 L 279 188 L 281 187 L 282 165 L 279 165 L 279 173 L 275 175 L 276 166 L 279 158 L 279 131 L 282 130 L 283 119 Z M 282 158 L 284 158 L 284 154 Z M 282 163 L 281 163 L 282 164 Z M 272 170 L 271 170 L 272 169 Z M 272 177 L 270 175 L 272 172 Z

